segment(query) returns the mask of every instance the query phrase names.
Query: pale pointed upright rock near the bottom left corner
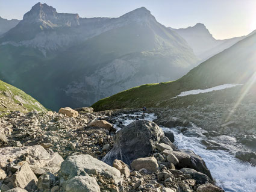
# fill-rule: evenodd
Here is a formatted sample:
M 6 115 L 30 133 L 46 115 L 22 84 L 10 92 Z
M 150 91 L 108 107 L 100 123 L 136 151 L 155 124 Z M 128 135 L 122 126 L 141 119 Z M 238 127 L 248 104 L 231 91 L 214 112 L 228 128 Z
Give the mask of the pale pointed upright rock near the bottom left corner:
M 34 175 L 27 162 L 25 162 L 13 176 L 11 176 L 11 184 L 13 184 L 13 187 L 25 188 L 28 191 L 37 188 L 37 181 L 38 179 L 36 175 Z

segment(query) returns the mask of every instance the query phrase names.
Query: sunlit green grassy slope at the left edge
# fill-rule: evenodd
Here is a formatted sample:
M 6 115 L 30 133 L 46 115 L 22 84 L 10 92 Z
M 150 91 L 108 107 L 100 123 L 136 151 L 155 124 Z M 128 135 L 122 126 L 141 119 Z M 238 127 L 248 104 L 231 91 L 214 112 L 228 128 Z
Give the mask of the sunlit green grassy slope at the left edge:
M 0 80 L 0 112 L 33 110 L 46 111 L 46 108 L 19 88 Z

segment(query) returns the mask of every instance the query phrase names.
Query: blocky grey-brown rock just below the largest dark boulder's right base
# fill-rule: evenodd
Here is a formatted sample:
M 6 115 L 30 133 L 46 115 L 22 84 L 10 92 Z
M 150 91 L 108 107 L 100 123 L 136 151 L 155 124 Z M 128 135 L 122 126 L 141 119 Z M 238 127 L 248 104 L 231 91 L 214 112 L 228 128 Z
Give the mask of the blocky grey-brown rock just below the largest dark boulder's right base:
M 146 169 L 148 172 L 155 173 L 158 169 L 157 159 L 154 156 L 135 159 L 131 163 L 131 168 L 139 171 L 140 169 Z

